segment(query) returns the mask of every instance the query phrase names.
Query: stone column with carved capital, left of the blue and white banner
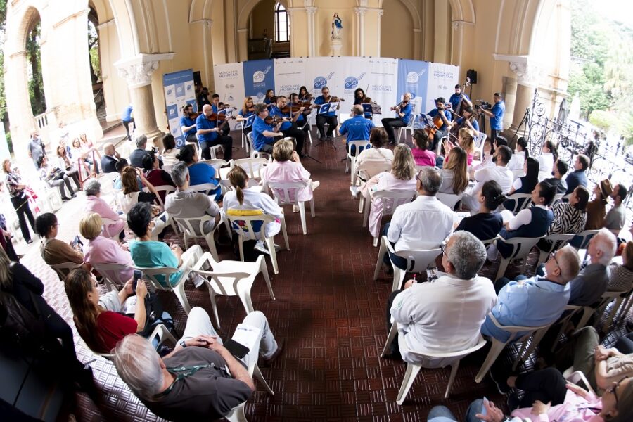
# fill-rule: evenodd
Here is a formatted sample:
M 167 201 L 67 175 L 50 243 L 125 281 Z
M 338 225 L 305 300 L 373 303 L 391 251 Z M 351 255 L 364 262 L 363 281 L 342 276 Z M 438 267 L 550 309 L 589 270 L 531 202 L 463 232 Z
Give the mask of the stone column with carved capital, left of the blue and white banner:
M 140 53 L 132 58 L 119 60 L 115 66 L 120 77 L 127 81 L 134 107 L 136 129 L 147 136 L 148 141 L 157 147 L 162 146 L 162 132 L 156 124 L 154 98 L 152 94 L 152 75 L 158 69 L 160 60 L 171 60 L 174 53 L 146 54 Z

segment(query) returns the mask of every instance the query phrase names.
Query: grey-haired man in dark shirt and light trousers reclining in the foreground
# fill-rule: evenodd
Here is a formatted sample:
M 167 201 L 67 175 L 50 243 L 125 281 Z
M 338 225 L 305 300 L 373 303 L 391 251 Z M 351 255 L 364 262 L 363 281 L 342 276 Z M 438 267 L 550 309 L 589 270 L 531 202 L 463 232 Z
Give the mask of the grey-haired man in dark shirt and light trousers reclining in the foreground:
M 234 337 L 238 332 L 256 338 L 243 359 L 222 345 L 207 312 L 194 307 L 172 353 L 161 358 L 149 340 L 128 335 L 115 348 L 114 363 L 123 381 L 157 416 L 170 421 L 216 420 L 252 395 L 255 384 L 248 366 L 259 354 L 270 364 L 283 349 L 262 312 L 248 314 Z

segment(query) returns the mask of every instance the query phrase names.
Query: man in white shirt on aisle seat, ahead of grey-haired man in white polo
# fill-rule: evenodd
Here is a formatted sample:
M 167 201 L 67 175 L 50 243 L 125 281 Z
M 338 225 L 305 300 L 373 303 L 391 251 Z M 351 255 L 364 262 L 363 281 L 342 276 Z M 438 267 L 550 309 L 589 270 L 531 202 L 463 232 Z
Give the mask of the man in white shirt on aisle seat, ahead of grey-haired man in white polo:
M 411 203 L 400 205 L 383 234 L 394 245 L 394 250 L 423 250 L 437 248 L 453 231 L 456 215 L 435 197 L 442 185 L 442 175 L 434 167 L 423 167 L 416 176 L 418 197 Z M 385 255 L 383 262 L 390 269 L 391 261 L 399 268 L 407 260 L 397 255 Z

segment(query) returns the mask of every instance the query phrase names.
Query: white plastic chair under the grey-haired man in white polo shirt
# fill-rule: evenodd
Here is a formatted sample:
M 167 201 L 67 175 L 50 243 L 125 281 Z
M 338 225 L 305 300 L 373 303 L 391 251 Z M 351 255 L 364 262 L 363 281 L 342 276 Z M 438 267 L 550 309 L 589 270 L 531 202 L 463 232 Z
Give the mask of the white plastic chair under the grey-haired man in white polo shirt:
M 454 352 L 442 352 L 442 353 L 434 353 L 434 352 L 418 352 L 411 351 L 407 348 L 407 342 L 400 341 L 400 338 L 404 339 L 404 332 L 398 330 L 399 325 L 397 322 L 393 322 L 391 324 L 391 329 L 389 331 L 389 335 L 387 336 L 387 342 L 385 343 L 385 347 L 383 348 L 383 352 L 381 353 L 381 357 L 384 357 L 385 354 L 388 353 L 388 349 L 395 338 L 396 334 L 398 334 L 398 346 L 400 347 L 401 352 L 414 352 L 420 357 L 436 357 L 436 358 L 452 358 L 454 362 L 450 364 L 451 366 L 451 376 L 449 377 L 448 385 L 446 386 L 446 392 L 444 394 L 444 398 L 447 399 L 451 392 L 451 386 L 457 375 L 457 369 L 459 369 L 459 362 L 463 357 L 466 357 L 468 354 L 476 352 L 485 346 L 486 340 L 484 340 L 481 336 L 479 338 L 479 342 L 473 347 L 469 347 L 466 350 L 456 350 Z M 416 376 L 418 376 L 418 372 L 422 369 L 421 365 L 412 364 L 411 362 L 407 362 L 407 371 L 404 372 L 404 378 L 402 379 L 402 385 L 400 385 L 400 389 L 398 390 L 398 396 L 396 398 L 396 403 L 402 406 L 404 403 L 404 399 L 409 394 L 409 390 L 411 390 L 411 385 L 413 385 Z

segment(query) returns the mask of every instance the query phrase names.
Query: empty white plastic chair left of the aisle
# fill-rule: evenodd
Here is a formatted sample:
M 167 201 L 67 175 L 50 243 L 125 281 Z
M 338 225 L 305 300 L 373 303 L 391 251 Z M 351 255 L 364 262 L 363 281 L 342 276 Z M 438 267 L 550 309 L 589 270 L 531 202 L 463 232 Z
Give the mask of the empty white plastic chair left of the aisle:
M 208 264 L 210 269 L 203 269 L 204 264 Z M 270 277 L 268 275 L 268 267 L 262 255 L 257 257 L 257 261 L 255 262 L 218 261 L 212 257 L 209 252 L 205 252 L 202 258 L 196 262 L 196 265 L 193 267 L 193 272 L 205 279 L 205 284 L 209 289 L 211 307 L 215 314 L 217 328 L 220 328 L 217 305 L 215 302 L 217 295 L 239 296 L 246 314 L 255 311 L 250 298 L 250 290 L 257 274 L 264 276 L 270 297 L 272 300 L 275 300 L 275 294 L 272 291 Z

